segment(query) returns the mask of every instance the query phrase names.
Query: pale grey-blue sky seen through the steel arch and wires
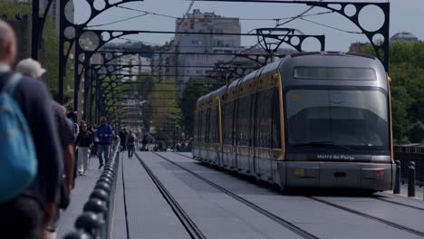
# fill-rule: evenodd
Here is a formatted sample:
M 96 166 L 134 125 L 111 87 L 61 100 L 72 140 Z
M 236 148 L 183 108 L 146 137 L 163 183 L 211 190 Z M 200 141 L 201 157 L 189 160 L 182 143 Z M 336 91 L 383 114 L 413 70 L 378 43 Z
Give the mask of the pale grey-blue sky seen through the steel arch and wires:
M 75 5 L 75 22 L 83 24 L 90 15 L 90 7 L 85 0 L 73 0 Z M 110 2 L 119 2 L 119 0 L 109 0 Z M 95 0 L 96 6 L 101 6 L 104 0 Z M 123 21 L 116 24 L 108 24 L 114 21 L 120 21 L 132 16 L 140 15 L 140 12 L 123 9 L 111 8 L 98 17 L 94 18 L 88 25 L 92 29 L 108 30 L 152 30 L 152 31 L 175 31 L 175 18 L 160 16 L 165 14 L 169 16 L 182 17 L 188 10 L 191 1 L 188 0 L 145 0 L 140 2 L 128 3 L 122 6 L 148 11 L 155 14 L 147 14 L 134 19 Z M 323 2 L 329 2 L 323 0 Z M 361 1 L 352 0 L 351 2 L 387 2 L 383 0 Z M 390 0 L 390 36 L 399 32 L 410 32 L 424 40 L 424 0 Z M 228 3 L 228 2 L 200 2 L 195 1 L 193 9 L 199 9 L 201 12 L 214 12 L 215 14 L 226 17 L 276 19 L 292 17 L 303 13 L 309 6 L 304 4 L 268 4 L 268 3 Z M 349 11 L 352 8 L 350 8 Z M 319 14 L 328 12 L 320 7 L 314 7 L 307 14 Z M 349 12 L 351 13 L 351 12 Z M 377 29 L 383 21 L 383 14 L 376 6 L 369 6 L 362 9 L 359 14 L 359 21 L 365 29 Z M 313 24 L 302 19 L 296 19 L 281 27 L 295 28 L 304 34 L 325 34 L 325 49 L 327 51 L 348 51 L 351 43 L 362 42 L 369 43 L 364 34 L 358 33 L 361 30 L 351 21 L 341 14 L 319 14 L 305 16 L 304 19 L 313 21 Z M 286 20 L 280 20 L 284 23 Z M 275 20 L 240 20 L 242 33 L 248 33 L 256 28 L 275 27 Z M 325 24 L 326 27 L 320 24 Z M 334 28 L 349 31 L 336 30 Z M 151 44 L 163 44 L 169 42 L 172 34 L 153 34 L 143 33 L 137 35 L 125 36 L 125 39 L 142 41 Z M 120 40 L 124 41 L 124 40 Z M 252 36 L 242 36 L 242 45 L 252 46 L 257 43 L 257 39 Z M 290 46 L 282 46 L 290 48 Z M 319 44 L 313 40 L 304 43 L 304 50 L 319 50 Z

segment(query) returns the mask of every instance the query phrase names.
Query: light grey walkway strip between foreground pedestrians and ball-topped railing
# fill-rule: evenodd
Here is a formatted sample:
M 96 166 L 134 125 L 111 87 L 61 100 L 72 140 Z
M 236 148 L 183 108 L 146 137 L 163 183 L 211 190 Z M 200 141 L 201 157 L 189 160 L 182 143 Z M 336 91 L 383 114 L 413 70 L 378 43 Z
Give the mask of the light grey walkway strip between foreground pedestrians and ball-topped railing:
M 61 214 L 57 238 L 63 238 L 65 234 L 74 230 L 75 219 L 82 214 L 82 207 L 94 188 L 97 179 L 100 177 L 103 169 L 98 169 L 99 160 L 92 157 L 88 167 L 87 176 L 79 176 L 75 180 L 75 188 L 72 190 L 71 204 L 67 210 Z

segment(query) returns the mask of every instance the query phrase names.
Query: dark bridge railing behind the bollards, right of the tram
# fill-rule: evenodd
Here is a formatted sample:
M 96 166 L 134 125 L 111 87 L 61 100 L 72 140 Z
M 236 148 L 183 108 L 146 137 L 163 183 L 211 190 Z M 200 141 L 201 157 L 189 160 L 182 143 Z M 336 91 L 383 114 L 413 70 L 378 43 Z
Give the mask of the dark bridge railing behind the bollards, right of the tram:
M 415 163 L 417 183 L 424 185 L 424 146 L 395 146 L 395 160 L 400 160 L 400 171 L 402 183 L 408 178 L 408 167 L 410 161 Z

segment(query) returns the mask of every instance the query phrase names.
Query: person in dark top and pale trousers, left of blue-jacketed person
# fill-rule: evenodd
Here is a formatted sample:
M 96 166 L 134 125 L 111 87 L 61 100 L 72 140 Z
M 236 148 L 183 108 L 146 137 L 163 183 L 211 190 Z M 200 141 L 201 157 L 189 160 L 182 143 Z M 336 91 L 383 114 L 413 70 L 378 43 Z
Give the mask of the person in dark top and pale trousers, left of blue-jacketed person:
M 75 147 L 78 147 L 78 173 L 83 176 L 87 175 L 89 148 L 92 146 L 92 142 L 92 133 L 87 129 L 87 124 L 82 124 Z

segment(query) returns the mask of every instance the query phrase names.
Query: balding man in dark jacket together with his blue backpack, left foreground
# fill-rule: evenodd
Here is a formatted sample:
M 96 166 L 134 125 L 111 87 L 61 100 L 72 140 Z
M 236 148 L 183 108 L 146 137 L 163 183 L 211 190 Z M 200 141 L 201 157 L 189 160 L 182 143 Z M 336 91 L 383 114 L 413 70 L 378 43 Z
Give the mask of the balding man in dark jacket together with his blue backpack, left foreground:
M 0 21 L 0 108 L 14 111 L 14 114 L 0 114 L 0 133 L 16 129 L 14 135 L 0 139 L 0 168 L 8 171 L 7 174 L 2 171 L 0 177 L 1 234 L 2 238 L 39 238 L 43 223 L 53 218 L 57 207 L 63 156 L 50 94 L 42 81 L 11 71 L 15 56 L 14 31 Z M 5 129 L 6 123 L 20 127 Z M 9 158 L 14 159 L 14 163 L 32 158 L 24 166 L 34 166 L 34 176 L 29 174 L 31 176 L 19 177 L 16 181 L 14 174 L 18 168 L 4 165 Z M 28 179 L 26 186 L 18 188 L 17 184 L 23 179 Z M 8 194 L 12 191 L 13 194 Z

